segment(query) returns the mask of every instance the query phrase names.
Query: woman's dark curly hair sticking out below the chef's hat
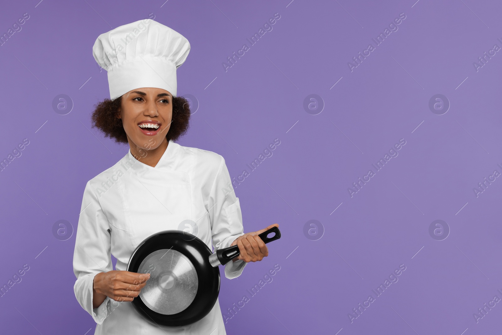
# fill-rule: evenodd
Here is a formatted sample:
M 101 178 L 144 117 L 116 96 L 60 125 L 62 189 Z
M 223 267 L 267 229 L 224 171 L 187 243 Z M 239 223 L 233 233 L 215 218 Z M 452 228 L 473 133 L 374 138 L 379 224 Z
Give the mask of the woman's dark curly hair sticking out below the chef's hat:
M 171 127 L 166 134 L 167 140 L 176 141 L 188 131 L 190 121 L 190 103 L 183 96 L 172 99 L 173 117 Z M 92 112 L 92 128 L 97 128 L 105 137 L 115 140 L 116 143 L 128 143 L 122 119 L 117 118 L 122 103 L 122 96 L 111 100 L 104 99 L 94 105 Z

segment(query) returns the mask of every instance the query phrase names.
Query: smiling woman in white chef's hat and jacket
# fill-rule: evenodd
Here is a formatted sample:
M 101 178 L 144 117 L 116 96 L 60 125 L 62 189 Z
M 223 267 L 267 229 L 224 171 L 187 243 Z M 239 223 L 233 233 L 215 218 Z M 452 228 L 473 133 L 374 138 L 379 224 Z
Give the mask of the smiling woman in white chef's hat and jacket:
M 108 72 L 110 99 L 98 103 L 93 127 L 129 151 L 85 185 L 73 270 L 75 296 L 97 323 L 95 334 L 225 334 L 219 302 L 200 321 L 167 328 L 141 316 L 131 301 L 150 274 L 125 271 L 135 248 L 165 230 L 190 229 L 211 249 L 237 245 L 225 266 L 238 277 L 268 249 L 243 233 L 239 199 L 222 156 L 176 141 L 188 129 L 189 106 L 176 96 L 176 69 L 190 51 L 176 31 L 147 19 L 99 35 L 96 62 Z M 117 259 L 113 270 L 110 254 Z

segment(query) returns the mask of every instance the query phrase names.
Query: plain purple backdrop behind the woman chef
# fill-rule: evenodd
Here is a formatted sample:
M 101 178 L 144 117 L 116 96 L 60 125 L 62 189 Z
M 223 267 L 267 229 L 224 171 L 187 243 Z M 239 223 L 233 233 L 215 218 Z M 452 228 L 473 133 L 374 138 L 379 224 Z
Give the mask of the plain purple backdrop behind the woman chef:
M 238 279 L 222 278 L 222 311 L 275 264 L 281 270 L 228 320 L 228 333 L 498 331 L 502 302 L 478 322 L 473 313 L 502 298 L 502 178 L 477 197 L 473 188 L 502 172 L 502 55 L 478 71 L 473 62 L 502 47 L 502 6 L 415 1 L 3 4 L 2 34 L 30 15 L 0 47 L 0 159 L 30 141 L 0 173 L 0 286 L 30 266 L 0 297 L 3 331 L 93 333 L 73 293 L 75 234 L 60 241 L 52 228 L 63 219 L 76 230 L 85 183 L 129 149 L 90 127 L 93 105 L 109 97 L 94 41 L 148 17 L 191 44 L 177 72 L 178 95 L 195 96 L 199 107 L 181 145 L 221 154 L 237 177 L 281 141 L 235 193 L 245 231 L 277 222 L 283 237 Z M 222 62 L 275 13 L 273 30 L 225 72 Z M 375 46 L 371 39 L 400 13 L 399 30 Z M 350 71 L 347 62 L 369 43 L 375 50 Z M 58 94 L 73 101 L 67 115 L 52 107 Z M 320 114 L 304 108 L 309 94 L 322 98 Z M 435 94 L 449 100 L 446 114 L 430 110 Z M 399 155 L 351 197 L 347 188 L 400 139 Z M 304 234 L 312 219 L 324 229 L 317 241 L 319 225 L 317 236 Z M 429 234 L 436 219 L 450 229 L 442 241 Z M 401 264 L 399 281 L 376 297 L 372 289 Z M 375 301 L 351 322 L 348 313 L 368 295 Z

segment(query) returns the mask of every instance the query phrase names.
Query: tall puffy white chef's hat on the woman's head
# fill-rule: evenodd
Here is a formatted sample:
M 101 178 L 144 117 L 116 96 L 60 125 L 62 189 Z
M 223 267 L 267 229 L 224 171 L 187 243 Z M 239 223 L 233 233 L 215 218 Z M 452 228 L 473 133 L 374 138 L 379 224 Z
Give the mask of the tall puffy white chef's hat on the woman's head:
M 108 72 L 110 99 L 140 87 L 156 87 L 176 96 L 176 69 L 190 43 L 180 33 L 151 19 L 99 35 L 92 47 L 96 62 Z

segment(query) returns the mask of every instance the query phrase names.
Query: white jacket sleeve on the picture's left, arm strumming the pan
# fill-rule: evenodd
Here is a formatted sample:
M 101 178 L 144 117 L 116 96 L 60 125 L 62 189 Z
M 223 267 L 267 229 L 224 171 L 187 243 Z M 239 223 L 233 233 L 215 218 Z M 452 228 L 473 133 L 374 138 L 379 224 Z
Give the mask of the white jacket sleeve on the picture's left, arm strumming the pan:
M 99 307 L 92 308 L 92 288 L 97 273 L 113 270 L 110 246 L 108 219 L 88 181 L 82 198 L 73 253 L 73 273 L 77 277 L 73 290 L 80 306 L 99 324 L 107 316 L 110 298 L 106 297 Z

